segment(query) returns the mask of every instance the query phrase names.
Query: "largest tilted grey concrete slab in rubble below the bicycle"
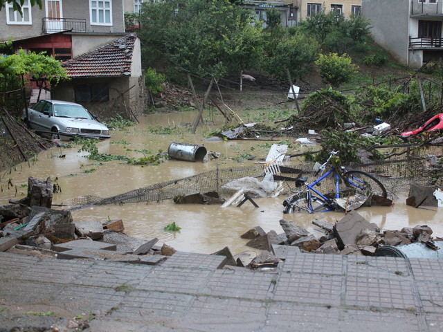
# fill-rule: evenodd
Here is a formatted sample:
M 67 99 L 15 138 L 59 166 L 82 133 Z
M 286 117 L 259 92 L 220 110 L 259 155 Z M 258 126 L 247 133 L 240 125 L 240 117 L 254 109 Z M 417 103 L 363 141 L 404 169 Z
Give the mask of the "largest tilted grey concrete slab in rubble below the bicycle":
M 338 248 L 356 243 L 356 239 L 363 230 L 376 231 L 375 223 L 370 223 L 354 210 L 348 212 L 343 219 L 334 225 L 334 234 L 338 241 Z

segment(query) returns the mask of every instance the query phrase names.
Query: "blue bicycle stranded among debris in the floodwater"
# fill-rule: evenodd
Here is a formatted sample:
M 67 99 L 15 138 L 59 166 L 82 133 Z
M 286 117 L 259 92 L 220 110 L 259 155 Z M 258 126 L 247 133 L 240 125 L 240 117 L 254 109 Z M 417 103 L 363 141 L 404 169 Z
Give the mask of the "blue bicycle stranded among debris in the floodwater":
M 338 154 L 338 151 L 331 152 L 326 162 L 318 168 L 316 176 L 320 172 L 323 174 L 329 160 L 336 154 Z M 321 181 L 328 176 L 334 178 L 334 192 L 322 194 L 315 187 L 320 186 Z M 327 173 L 320 176 L 313 183 L 306 183 L 307 179 L 308 177 L 305 176 L 296 180 L 296 187 L 305 185 L 306 188 L 284 200 L 284 213 L 296 211 L 327 212 L 340 208 L 348 211 L 359 208 L 372 195 L 382 196 L 385 199 L 388 196 L 385 187 L 375 176 L 357 169 L 347 170 L 343 166 L 338 169 L 332 166 Z

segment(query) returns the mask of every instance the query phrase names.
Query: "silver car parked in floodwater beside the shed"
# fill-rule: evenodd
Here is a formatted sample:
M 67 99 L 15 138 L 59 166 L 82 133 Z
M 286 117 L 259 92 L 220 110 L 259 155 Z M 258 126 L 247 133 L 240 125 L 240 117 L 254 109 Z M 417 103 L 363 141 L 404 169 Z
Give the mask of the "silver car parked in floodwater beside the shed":
M 38 133 L 71 140 L 75 136 L 109 138 L 109 129 L 82 105 L 61 100 L 40 100 L 24 111 L 22 120 Z

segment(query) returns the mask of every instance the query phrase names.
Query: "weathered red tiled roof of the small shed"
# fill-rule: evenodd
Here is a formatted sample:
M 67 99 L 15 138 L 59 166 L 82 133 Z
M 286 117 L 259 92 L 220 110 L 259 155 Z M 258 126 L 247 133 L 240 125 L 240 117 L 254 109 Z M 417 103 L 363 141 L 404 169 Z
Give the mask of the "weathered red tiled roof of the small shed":
M 135 33 L 62 63 L 68 77 L 116 77 L 131 75 Z

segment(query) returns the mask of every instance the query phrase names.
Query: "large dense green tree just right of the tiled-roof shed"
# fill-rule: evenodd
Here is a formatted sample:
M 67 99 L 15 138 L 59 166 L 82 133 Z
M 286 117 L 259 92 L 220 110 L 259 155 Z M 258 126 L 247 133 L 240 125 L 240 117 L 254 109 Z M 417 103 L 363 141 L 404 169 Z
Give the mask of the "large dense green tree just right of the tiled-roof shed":
M 235 49 L 230 39 L 241 42 L 250 22 L 248 10 L 228 0 L 149 3 L 141 13 L 145 66 L 165 57 L 186 71 L 220 77 L 231 61 L 226 50 Z

